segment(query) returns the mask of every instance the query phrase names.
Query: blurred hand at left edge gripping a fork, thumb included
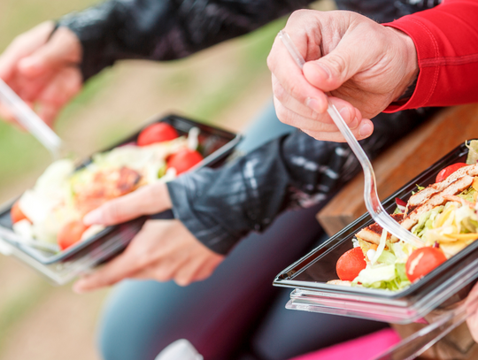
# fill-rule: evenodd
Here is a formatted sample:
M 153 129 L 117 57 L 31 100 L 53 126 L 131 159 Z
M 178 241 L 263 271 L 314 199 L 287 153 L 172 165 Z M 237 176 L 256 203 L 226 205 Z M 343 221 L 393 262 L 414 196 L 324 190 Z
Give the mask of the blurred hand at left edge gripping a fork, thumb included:
M 0 56 L 0 78 L 50 126 L 82 84 L 81 43 L 67 27 L 50 38 L 54 26 L 48 21 L 20 34 Z M 0 116 L 14 120 L 1 104 Z

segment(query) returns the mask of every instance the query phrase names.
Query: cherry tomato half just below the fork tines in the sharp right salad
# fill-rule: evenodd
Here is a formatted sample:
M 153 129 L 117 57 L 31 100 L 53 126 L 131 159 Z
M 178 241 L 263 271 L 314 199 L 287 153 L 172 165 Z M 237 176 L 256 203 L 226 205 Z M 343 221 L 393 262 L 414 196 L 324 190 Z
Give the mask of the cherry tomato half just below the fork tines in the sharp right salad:
M 405 264 L 408 280 L 415 281 L 431 272 L 446 261 L 443 251 L 438 248 L 425 247 L 412 252 Z

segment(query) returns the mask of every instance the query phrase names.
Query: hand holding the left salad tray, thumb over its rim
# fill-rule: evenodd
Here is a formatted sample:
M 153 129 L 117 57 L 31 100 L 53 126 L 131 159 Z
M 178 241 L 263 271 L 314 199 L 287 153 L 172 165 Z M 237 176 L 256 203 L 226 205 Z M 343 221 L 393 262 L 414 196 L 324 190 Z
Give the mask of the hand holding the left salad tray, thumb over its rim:
M 86 225 L 114 225 L 170 209 L 166 184 L 158 183 L 104 203 L 83 219 Z M 178 285 L 208 278 L 224 259 L 206 248 L 179 220 L 148 220 L 127 246 L 103 268 L 78 280 L 73 290 L 84 293 L 123 279 L 174 280 Z

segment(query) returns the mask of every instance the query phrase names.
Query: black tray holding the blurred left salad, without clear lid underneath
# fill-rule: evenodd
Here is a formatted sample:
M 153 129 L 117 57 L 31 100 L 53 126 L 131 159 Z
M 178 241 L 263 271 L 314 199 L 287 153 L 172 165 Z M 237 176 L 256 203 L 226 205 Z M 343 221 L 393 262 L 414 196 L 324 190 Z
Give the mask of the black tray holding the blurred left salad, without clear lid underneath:
M 198 151 L 203 155 L 204 160 L 197 167 L 217 167 L 222 165 L 226 160 L 227 156 L 235 149 L 235 146 L 241 141 L 241 135 L 239 134 L 233 134 L 226 130 L 222 130 L 213 126 L 207 126 L 197 121 L 186 119 L 177 115 L 168 115 L 161 119 L 153 119 L 148 125 L 155 122 L 166 122 L 172 125 L 180 135 L 188 134 L 189 130 L 192 127 L 199 128 L 200 133 L 198 135 Z M 111 148 L 104 149 L 104 151 L 114 149 L 128 142 L 135 142 L 140 132 L 141 130 L 129 136 L 122 142 L 115 144 Z M 90 159 L 86 159 L 84 162 L 81 163 L 81 165 L 79 165 L 79 168 L 84 165 L 88 165 L 89 162 Z M 11 232 L 12 219 L 10 218 L 10 211 L 12 209 L 12 205 L 12 202 L 7 203 L 0 209 L 0 226 L 4 227 L 4 229 L 10 230 Z M 150 217 L 136 218 L 118 226 L 108 226 L 101 233 L 96 234 L 95 236 L 92 236 L 85 241 L 77 242 L 70 248 L 61 251 L 58 254 L 51 254 L 46 251 L 34 249 L 24 243 L 21 243 L 21 241 L 14 241 L 15 234 L 13 234 L 13 232 L 12 238 L 4 237 L 4 240 L 12 244 L 14 247 L 20 249 L 21 251 L 27 253 L 27 255 L 29 255 L 30 257 L 34 257 L 35 260 L 39 261 L 42 264 L 55 264 L 66 261 L 71 262 L 81 257 L 84 257 L 92 251 L 97 251 L 97 249 L 101 249 L 101 245 L 105 241 L 112 240 L 113 237 L 117 238 L 117 241 L 121 243 L 119 251 L 116 252 L 116 254 L 118 254 L 122 249 L 126 248 L 129 241 L 131 241 L 135 234 L 138 233 L 138 231 L 143 226 L 143 223 L 148 218 L 173 218 L 173 212 L 164 211 L 160 214 L 152 215 Z M 105 255 L 104 261 L 111 257 L 112 255 L 110 254 L 108 254 L 107 256 Z

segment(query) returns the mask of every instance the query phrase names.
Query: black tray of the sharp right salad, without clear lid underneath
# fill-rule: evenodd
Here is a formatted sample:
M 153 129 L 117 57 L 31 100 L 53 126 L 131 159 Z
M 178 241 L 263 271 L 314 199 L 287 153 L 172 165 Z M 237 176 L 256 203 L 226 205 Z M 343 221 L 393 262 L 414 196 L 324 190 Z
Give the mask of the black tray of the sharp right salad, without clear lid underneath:
M 403 188 L 400 188 L 395 194 L 390 195 L 382 202 L 383 207 L 389 213 L 396 208 L 395 198 L 408 200 L 412 191 L 417 190 L 417 185 L 428 186 L 435 182 L 436 174 L 448 165 L 465 162 L 468 149 L 465 144 L 460 144 L 456 149 L 451 150 L 449 154 L 442 157 L 434 165 L 431 165 L 426 171 L 408 182 Z M 472 264 L 478 258 L 478 241 L 474 241 L 458 254 L 438 266 L 432 272 L 429 272 L 421 280 L 412 283 L 400 291 L 388 291 L 382 289 L 372 289 L 366 287 L 344 287 L 327 284 L 329 280 L 337 280 L 338 275 L 335 272 L 335 264 L 339 257 L 345 251 L 352 248 L 352 238 L 358 231 L 374 221 L 368 213 L 362 215 L 351 225 L 343 228 L 342 231 L 333 235 L 328 241 L 323 242 L 318 248 L 313 249 L 305 257 L 291 264 L 287 269 L 279 273 L 274 280 L 275 286 L 294 287 L 304 290 L 320 291 L 320 294 L 335 294 L 359 296 L 361 298 L 382 299 L 382 303 L 404 301 L 405 303 L 415 303 L 420 299 L 434 292 L 442 286 L 446 280 L 453 274 L 457 274 L 466 266 Z M 478 272 L 474 279 L 478 277 Z M 333 297 L 333 296 L 331 296 Z M 460 296 L 462 297 L 462 296 Z

